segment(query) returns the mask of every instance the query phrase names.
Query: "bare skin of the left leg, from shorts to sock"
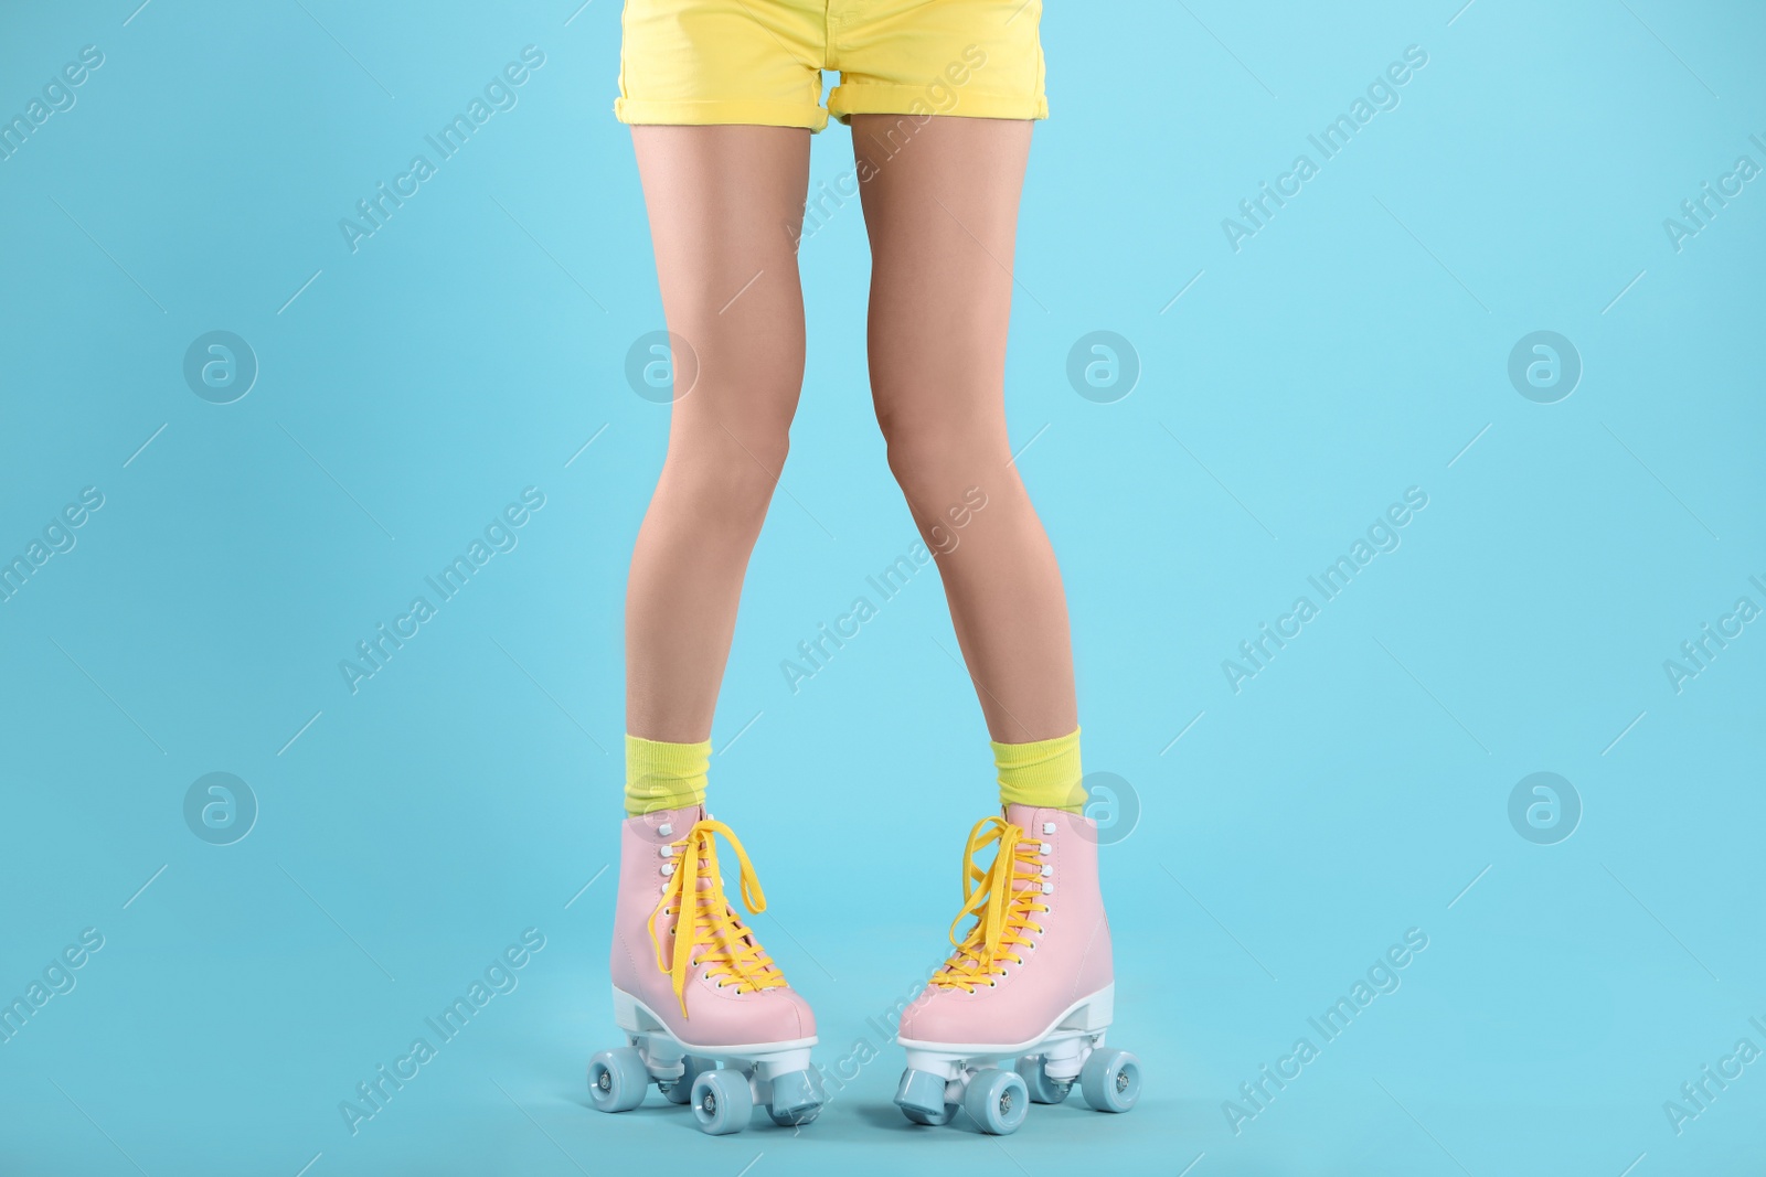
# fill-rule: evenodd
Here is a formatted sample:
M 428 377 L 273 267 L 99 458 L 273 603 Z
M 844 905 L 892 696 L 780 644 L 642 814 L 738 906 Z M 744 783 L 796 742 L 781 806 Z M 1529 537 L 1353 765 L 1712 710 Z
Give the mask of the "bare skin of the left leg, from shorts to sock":
M 749 554 L 804 383 L 809 132 L 632 127 L 669 332 L 698 355 L 625 589 L 625 729 L 712 734 Z

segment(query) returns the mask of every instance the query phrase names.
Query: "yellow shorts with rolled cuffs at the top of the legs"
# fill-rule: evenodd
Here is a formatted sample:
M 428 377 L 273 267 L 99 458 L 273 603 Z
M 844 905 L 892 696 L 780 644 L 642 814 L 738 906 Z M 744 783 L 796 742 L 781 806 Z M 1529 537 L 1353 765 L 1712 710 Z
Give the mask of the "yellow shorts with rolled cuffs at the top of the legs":
M 1042 0 L 625 0 L 627 124 L 1047 118 Z M 821 108 L 821 71 L 841 83 Z

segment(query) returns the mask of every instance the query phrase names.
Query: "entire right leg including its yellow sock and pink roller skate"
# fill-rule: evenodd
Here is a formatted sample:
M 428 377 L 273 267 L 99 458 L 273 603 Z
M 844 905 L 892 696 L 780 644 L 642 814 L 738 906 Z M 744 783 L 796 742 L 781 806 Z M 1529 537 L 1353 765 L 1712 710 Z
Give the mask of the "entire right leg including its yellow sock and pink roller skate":
M 1005 432 L 1030 124 L 934 116 L 911 134 L 902 127 L 913 124 L 853 116 L 869 176 L 871 385 L 890 469 L 927 545 L 943 552 L 957 641 L 994 738 L 1001 812 L 970 831 L 964 916 L 975 923 L 901 1015 L 908 1069 L 895 1103 L 909 1119 L 941 1122 L 957 1073 L 968 1076 L 970 1117 L 1010 1131 L 1026 1098 L 1058 1103 L 1075 1082 L 1093 1106 L 1132 1106 L 1139 1064 L 1097 1050 L 1114 972 L 1097 824 L 1081 812 L 1067 602 Z M 980 510 L 970 487 L 985 494 Z M 1040 1057 L 1028 1073 L 1023 1062 L 975 1069 L 1003 1050 Z

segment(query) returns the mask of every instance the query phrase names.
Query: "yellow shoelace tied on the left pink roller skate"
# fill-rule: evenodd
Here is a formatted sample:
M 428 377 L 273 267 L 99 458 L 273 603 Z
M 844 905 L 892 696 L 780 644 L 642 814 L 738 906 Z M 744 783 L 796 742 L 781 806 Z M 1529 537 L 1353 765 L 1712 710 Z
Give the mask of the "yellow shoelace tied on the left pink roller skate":
M 673 941 L 669 962 L 662 960 L 662 941 L 657 937 L 655 918 L 650 919 L 650 944 L 657 951 L 657 971 L 671 974 L 675 981 L 675 999 L 680 1001 L 680 1015 L 687 1016 L 687 972 L 698 965 L 706 965 L 705 976 L 712 981 L 735 985 L 738 993 L 784 985 L 784 972 L 774 965 L 761 946 L 754 941 L 736 911 L 724 898 L 722 877 L 717 870 L 717 835 L 729 840 L 729 849 L 736 852 L 742 868 L 742 902 L 749 914 L 758 916 L 766 911 L 766 895 L 761 891 L 749 852 L 742 849 L 736 835 L 724 822 L 705 819 L 694 822 L 685 838 L 673 843 L 675 872 L 669 873 L 657 902 L 657 912 L 675 916 L 675 928 L 668 933 Z M 699 863 L 705 863 L 703 866 Z M 708 879 L 708 888 L 699 888 L 699 879 Z M 692 896 L 692 916 L 687 916 L 687 896 Z

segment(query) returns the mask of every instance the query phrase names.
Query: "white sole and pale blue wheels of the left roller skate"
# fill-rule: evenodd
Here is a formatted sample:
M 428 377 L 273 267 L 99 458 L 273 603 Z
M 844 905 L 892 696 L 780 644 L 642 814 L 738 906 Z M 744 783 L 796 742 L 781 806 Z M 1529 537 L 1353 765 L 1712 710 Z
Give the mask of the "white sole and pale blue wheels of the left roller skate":
M 588 1096 L 602 1112 L 636 1108 L 650 1083 L 669 1103 L 691 1103 L 699 1129 L 713 1136 L 747 1128 L 756 1105 L 765 1105 L 775 1124 L 793 1128 L 821 1110 L 821 1076 L 809 1061 L 814 1034 L 777 1043 L 691 1043 L 620 986 L 613 986 L 613 1020 L 627 1045 L 588 1062 Z

